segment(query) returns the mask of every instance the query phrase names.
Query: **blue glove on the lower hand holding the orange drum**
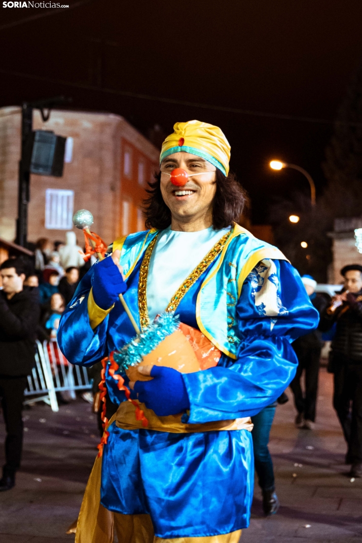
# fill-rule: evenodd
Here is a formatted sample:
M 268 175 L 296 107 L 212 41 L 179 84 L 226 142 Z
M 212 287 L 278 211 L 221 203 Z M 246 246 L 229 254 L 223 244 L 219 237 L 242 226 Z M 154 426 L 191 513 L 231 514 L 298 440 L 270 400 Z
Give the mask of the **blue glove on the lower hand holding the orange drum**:
M 173 368 L 154 366 L 152 381 L 136 381 L 138 400 L 153 409 L 157 416 L 176 415 L 190 408 L 182 374 Z

